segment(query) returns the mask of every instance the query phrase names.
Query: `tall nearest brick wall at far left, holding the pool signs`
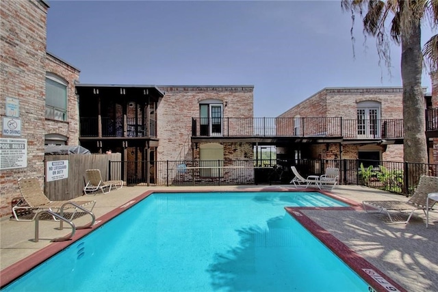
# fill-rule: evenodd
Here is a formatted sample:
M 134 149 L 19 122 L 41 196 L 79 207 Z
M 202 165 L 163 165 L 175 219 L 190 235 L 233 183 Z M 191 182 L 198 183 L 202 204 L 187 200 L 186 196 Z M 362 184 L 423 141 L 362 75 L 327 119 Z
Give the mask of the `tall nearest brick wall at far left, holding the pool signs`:
M 19 196 L 18 178 L 44 179 L 44 91 L 47 5 L 42 1 L 1 1 L 0 119 L 5 98 L 18 98 L 21 139 L 27 139 L 27 168 L 0 171 L 0 215 L 10 215 L 11 200 Z M 17 137 L 18 138 L 18 137 Z

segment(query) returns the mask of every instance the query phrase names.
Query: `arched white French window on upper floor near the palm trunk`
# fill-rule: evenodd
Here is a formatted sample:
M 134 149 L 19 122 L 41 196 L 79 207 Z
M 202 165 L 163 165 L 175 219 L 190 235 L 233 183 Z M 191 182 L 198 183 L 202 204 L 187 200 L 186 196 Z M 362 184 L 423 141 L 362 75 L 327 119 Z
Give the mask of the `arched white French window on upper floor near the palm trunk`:
M 381 137 L 381 104 L 363 101 L 357 104 L 357 135 L 359 137 Z

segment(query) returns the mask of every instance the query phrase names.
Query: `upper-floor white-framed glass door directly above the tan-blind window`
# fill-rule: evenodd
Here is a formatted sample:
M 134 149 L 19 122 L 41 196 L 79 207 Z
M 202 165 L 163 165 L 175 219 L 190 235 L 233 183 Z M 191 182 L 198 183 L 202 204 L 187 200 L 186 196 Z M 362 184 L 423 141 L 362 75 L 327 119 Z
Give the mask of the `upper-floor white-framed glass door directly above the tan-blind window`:
M 199 105 L 201 136 L 221 136 L 223 123 L 223 105 L 221 101 L 202 101 Z

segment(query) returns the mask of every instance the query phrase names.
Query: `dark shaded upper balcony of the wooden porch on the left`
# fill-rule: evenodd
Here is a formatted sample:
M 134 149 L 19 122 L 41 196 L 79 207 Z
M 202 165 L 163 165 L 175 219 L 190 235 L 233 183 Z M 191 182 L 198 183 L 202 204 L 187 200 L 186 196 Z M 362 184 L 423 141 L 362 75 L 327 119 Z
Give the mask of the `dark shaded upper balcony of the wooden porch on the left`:
M 81 118 L 80 137 L 155 137 L 155 120 L 136 118 Z M 149 131 L 148 131 L 149 130 Z

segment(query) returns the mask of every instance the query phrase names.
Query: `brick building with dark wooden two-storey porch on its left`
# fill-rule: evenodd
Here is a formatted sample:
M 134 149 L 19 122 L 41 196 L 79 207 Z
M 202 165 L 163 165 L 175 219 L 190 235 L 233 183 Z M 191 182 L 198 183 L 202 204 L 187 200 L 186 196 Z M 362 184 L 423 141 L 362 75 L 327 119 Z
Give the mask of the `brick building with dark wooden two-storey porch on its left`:
M 250 141 L 227 135 L 253 135 L 253 127 L 229 122 L 253 118 L 253 85 L 78 83 L 76 88 L 81 145 L 91 152 L 122 153 L 123 161 L 131 161 L 123 170 L 127 183 L 155 183 L 160 176 L 155 161 L 253 157 Z

